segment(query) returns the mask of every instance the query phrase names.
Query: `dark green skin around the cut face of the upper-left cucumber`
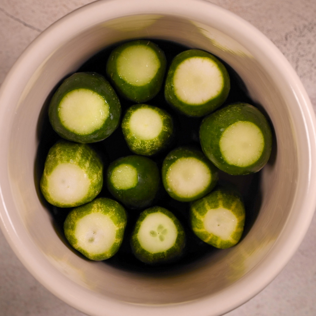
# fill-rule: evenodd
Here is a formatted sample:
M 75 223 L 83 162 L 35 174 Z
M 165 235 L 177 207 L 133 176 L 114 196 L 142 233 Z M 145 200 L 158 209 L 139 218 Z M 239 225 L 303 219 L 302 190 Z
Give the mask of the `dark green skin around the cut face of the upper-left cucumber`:
M 86 88 L 100 94 L 109 106 L 109 115 L 102 127 L 90 134 L 79 135 L 65 128 L 58 116 L 58 106 L 68 92 Z M 48 109 L 49 120 L 56 133 L 73 142 L 95 143 L 109 137 L 119 126 L 121 104 L 110 83 L 95 72 L 77 72 L 64 80 L 52 97 Z

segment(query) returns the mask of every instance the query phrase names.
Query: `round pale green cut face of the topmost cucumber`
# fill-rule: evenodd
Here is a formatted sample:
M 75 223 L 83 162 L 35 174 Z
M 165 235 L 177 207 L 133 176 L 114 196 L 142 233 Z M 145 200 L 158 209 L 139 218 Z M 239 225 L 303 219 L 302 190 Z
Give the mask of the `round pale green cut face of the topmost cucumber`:
M 148 84 L 159 68 L 160 61 L 155 51 L 145 45 L 129 46 L 117 59 L 119 76 L 134 86 Z

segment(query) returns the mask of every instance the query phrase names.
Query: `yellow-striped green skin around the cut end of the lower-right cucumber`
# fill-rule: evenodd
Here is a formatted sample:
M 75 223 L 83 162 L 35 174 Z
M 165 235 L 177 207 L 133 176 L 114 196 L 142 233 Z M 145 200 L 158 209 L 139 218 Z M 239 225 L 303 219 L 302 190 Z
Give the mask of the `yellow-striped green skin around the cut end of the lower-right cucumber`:
M 223 207 L 231 210 L 238 218 L 236 230 L 231 235 L 232 240 L 221 238 L 208 233 L 204 229 L 203 218 L 208 210 Z M 229 248 L 238 243 L 244 230 L 245 207 L 240 195 L 235 191 L 217 189 L 190 205 L 190 222 L 194 234 L 207 244 L 216 248 Z

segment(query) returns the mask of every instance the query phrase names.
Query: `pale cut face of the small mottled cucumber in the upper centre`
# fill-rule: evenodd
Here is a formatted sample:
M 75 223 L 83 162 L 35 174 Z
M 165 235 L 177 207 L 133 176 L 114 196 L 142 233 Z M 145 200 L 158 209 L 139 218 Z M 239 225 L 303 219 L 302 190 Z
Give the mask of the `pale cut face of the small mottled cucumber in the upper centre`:
M 161 115 L 151 108 L 139 108 L 131 114 L 129 128 L 138 139 L 155 139 L 163 128 Z

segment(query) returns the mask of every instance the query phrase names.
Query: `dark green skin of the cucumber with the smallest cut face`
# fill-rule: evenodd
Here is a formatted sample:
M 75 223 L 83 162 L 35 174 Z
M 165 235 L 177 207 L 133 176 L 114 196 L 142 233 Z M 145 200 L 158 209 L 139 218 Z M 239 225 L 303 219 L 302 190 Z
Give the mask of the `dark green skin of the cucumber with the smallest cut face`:
M 111 183 L 111 174 L 115 167 L 120 164 L 130 164 L 135 167 L 138 174 L 138 183 L 135 187 L 127 190 L 118 190 Z M 113 161 L 107 169 L 107 188 L 110 193 L 125 206 L 132 209 L 149 206 L 154 200 L 160 184 L 158 167 L 151 159 L 130 155 Z

